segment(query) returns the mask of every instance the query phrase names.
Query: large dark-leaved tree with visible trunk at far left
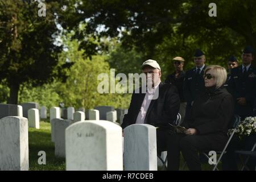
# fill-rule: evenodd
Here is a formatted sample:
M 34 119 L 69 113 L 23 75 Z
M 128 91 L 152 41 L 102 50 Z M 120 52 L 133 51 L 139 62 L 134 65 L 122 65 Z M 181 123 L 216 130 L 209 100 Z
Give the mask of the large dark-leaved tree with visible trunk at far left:
M 64 70 L 72 65 L 59 63 L 62 47 L 54 44 L 61 4 L 47 2 L 46 16 L 39 17 L 38 3 L 0 0 L 0 80 L 10 88 L 9 104 L 18 104 L 20 84 L 43 85 L 55 77 L 64 81 Z

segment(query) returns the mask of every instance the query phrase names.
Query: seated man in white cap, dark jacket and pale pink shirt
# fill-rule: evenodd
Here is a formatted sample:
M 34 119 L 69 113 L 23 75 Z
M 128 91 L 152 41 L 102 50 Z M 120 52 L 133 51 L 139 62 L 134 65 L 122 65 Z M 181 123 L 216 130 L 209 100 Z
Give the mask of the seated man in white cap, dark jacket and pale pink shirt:
M 176 86 L 161 82 L 161 69 L 155 60 L 144 61 L 142 72 L 147 77 L 147 92 L 143 93 L 142 87 L 139 88 L 139 92 L 137 92 L 138 90 L 134 90 L 128 113 L 125 114 L 121 126 L 122 129 L 135 123 L 156 126 L 158 154 L 160 155 L 162 151 L 166 150 L 168 154 L 168 151 L 172 147 L 170 146 L 170 142 L 168 142 L 170 132 L 172 131 L 171 125 L 176 120 L 180 107 L 179 94 L 177 93 Z M 151 87 L 153 92 L 148 87 Z M 158 97 L 152 100 L 151 98 L 154 98 L 157 92 Z M 152 95 L 154 96 L 152 97 Z

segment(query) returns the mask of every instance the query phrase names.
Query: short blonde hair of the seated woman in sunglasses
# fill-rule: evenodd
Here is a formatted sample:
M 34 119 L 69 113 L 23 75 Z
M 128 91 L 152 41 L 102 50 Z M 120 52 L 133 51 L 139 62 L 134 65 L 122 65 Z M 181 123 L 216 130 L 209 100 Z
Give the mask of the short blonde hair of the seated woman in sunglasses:
M 226 69 L 219 65 L 208 66 L 207 68 L 205 68 L 204 74 L 205 73 L 210 73 L 210 75 L 214 76 L 217 89 L 224 85 L 226 82 Z

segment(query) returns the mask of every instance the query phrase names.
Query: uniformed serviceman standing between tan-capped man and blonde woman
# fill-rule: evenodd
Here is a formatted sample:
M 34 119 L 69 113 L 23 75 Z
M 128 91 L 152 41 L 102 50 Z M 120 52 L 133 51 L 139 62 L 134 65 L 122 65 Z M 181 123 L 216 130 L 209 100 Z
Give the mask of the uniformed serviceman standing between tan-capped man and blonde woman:
M 195 68 L 188 70 L 185 73 L 185 80 L 183 86 L 183 92 L 185 101 L 187 101 L 186 114 L 191 110 L 193 101 L 196 96 L 201 92 L 204 92 L 204 70 L 207 67 L 205 65 L 205 55 L 200 49 L 196 49 L 194 55 Z

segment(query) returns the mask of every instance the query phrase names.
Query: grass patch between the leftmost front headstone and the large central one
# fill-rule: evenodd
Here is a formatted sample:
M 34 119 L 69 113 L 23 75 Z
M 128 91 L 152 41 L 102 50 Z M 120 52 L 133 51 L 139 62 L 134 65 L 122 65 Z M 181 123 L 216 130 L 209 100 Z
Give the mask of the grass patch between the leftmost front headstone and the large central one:
M 40 121 L 40 129 L 28 128 L 29 162 L 30 171 L 63 171 L 65 159 L 56 158 L 54 155 L 54 143 L 51 142 L 51 124 L 49 120 Z M 46 165 L 39 165 L 39 151 L 46 152 Z

